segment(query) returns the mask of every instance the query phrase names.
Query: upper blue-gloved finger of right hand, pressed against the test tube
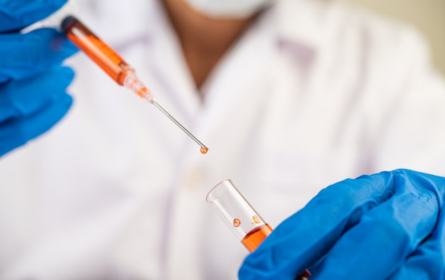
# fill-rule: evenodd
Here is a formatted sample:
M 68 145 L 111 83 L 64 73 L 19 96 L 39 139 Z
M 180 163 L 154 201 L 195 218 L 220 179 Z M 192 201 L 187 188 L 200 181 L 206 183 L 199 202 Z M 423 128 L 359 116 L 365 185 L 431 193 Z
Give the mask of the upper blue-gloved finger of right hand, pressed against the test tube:
M 331 185 L 282 222 L 247 256 L 239 271 L 240 279 L 294 279 L 306 267 L 319 262 L 365 212 L 390 199 L 397 189 L 396 177 L 414 174 L 419 175 L 419 181 L 426 181 L 424 188 L 431 185 L 438 197 L 444 193 L 444 178 L 404 170 Z

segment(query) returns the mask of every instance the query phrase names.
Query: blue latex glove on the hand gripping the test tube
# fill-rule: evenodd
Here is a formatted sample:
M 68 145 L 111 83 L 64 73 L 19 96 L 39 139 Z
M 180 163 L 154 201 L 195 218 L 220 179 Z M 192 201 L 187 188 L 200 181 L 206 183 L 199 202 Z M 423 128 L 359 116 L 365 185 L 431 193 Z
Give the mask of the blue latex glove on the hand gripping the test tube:
M 445 279 L 445 178 L 408 170 L 321 190 L 242 264 L 240 279 Z

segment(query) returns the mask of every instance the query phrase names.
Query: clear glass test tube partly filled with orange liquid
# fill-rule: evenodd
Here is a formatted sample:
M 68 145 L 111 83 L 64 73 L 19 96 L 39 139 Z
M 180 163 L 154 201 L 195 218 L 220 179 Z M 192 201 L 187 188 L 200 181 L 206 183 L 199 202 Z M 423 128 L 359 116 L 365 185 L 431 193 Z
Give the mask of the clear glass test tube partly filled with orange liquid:
M 257 249 L 272 232 L 272 227 L 262 220 L 231 180 L 216 185 L 205 200 L 213 206 L 249 252 Z M 306 269 L 296 279 L 305 280 L 309 276 L 311 273 Z

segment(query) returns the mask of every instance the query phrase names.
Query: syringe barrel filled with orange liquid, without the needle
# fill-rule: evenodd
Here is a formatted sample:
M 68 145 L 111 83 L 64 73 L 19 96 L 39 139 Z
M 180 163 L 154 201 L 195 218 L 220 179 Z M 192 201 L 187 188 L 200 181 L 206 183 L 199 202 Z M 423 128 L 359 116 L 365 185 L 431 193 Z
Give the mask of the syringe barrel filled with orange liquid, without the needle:
M 134 72 L 120 55 L 74 16 L 67 16 L 61 28 L 68 39 L 77 45 L 77 48 L 90 56 L 119 85 L 124 85 L 128 72 Z

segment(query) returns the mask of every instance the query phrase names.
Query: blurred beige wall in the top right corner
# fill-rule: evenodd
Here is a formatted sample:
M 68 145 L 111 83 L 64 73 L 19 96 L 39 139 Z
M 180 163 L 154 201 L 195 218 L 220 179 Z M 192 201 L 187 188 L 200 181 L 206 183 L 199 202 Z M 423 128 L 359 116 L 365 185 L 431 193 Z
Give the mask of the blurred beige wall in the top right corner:
M 415 26 L 431 45 L 433 63 L 445 75 L 445 0 L 337 0 L 365 6 Z

